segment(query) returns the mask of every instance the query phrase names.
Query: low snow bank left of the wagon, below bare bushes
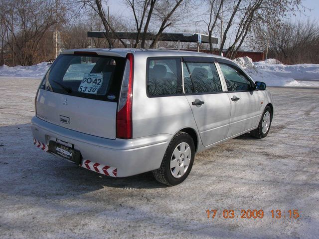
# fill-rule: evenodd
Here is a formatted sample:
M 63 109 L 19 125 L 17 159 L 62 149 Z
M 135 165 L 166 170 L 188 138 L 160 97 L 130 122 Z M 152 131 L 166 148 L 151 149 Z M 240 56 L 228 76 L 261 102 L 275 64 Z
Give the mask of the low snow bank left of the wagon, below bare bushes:
M 0 76 L 15 76 L 23 78 L 42 78 L 50 65 L 47 62 L 42 62 L 31 66 L 17 65 L 10 67 L 7 65 L 0 66 Z

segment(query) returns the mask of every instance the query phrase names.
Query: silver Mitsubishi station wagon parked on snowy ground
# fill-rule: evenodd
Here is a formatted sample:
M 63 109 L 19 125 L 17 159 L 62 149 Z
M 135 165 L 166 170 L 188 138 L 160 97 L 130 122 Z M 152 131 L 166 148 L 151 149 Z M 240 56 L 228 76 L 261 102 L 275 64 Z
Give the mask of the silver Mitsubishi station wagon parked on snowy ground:
M 233 61 L 151 49 L 66 50 L 35 98 L 33 143 L 112 177 L 183 182 L 195 153 L 267 136 L 273 100 Z

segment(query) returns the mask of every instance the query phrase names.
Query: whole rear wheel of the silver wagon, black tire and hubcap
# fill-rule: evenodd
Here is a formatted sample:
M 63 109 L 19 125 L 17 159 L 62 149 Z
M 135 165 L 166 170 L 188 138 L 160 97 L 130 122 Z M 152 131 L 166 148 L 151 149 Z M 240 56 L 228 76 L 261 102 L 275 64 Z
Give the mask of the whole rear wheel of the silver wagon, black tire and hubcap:
M 190 173 L 195 157 L 193 139 L 185 132 L 178 132 L 171 139 L 160 168 L 153 171 L 157 181 L 168 186 L 183 182 Z

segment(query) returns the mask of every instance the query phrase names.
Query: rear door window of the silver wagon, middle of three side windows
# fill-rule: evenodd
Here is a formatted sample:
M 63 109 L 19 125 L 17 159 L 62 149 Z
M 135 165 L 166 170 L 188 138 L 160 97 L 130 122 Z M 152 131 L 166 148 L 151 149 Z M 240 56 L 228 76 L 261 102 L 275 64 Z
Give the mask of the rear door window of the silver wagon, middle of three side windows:
M 185 93 L 221 92 L 221 82 L 213 62 L 183 62 Z

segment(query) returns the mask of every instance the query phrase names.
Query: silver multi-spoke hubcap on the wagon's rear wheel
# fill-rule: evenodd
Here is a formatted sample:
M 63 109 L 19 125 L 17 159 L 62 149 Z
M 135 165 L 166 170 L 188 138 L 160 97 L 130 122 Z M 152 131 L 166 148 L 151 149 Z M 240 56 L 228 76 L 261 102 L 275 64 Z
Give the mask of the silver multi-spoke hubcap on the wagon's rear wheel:
M 191 150 L 187 143 L 182 142 L 176 146 L 170 158 L 170 173 L 174 178 L 183 176 L 189 166 Z

